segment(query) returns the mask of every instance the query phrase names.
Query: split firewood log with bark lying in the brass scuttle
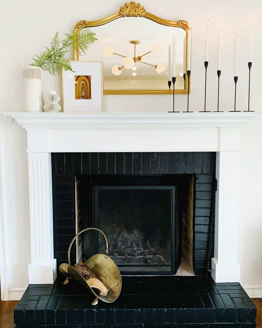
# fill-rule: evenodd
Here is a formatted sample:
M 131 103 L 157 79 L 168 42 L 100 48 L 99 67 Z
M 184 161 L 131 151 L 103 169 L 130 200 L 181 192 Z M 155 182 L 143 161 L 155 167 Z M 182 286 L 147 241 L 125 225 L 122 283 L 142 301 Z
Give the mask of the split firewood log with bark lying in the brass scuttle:
M 98 290 L 99 295 L 106 296 L 108 289 L 105 287 L 103 282 L 96 277 L 94 271 L 90 269 L 83 262 L 76 263 L 74 265 L 76 271 L 84 278 L 86 283 L 90 288 L 95 288 Z

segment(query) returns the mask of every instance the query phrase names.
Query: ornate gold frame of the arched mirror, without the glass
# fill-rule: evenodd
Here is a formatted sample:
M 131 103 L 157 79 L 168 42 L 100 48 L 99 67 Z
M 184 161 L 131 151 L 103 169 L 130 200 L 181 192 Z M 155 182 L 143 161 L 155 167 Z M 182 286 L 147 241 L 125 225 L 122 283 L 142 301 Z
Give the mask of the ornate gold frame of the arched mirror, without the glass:
M 86 21 L 82 20 L 78 22 L 74 28 L 75 32 L 79 32 L 84 28 L 90 28 L 95 26 L 104 25 L 107 23 L 112 22 L 115 19 L 122 18 L 122 17 L 144 17 L 147 19 L 152 20 L 161 25 L 171 26 L 171 27 L 180 27 L 186 32 L 186 67 L 187 67 L 187 43 L 188 43 L 188 30 L 189 24 L 184 20 L 178 21 L 171 21 L 164 18 L 160 18 L 150 12 L 145 11 L 144 6 L 141 6 L 140 3 L 136 3 L 131 1 L 129 3 L 125 3 L 124 6 L 120 8 L 118 12 L 113 13 L 110 16 L 104 17 L 99 20 L 95 21 Z M 79 46 L 77 44 L 76 48 L 74 49 L 74 60 L 79 61 Z M 166 81 L 167 82 L 167 81 Z M 186 77 L 186 87 L 185 89 L 175 90 L 176 94 L 185 94 L 187 93 L 189 88 L 190 92 L 190 79 L 188 83 L 188 78 Z M 173 94 L 173 90 L 147 90 L 147 89 L 138 89 L 138 90 L 111 90 L 111 89 L 104 89 L 104 94 Z

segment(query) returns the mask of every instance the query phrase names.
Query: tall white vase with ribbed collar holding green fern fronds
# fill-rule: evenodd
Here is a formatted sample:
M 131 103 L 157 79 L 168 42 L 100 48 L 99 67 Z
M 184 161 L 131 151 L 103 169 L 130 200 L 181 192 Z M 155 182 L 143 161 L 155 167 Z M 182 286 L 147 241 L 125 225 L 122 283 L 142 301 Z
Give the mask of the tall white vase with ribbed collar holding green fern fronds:
M 25 112 L 43 112 L 43 79 L 44 74 L 42 68 L 30 66 L 23 69 Z

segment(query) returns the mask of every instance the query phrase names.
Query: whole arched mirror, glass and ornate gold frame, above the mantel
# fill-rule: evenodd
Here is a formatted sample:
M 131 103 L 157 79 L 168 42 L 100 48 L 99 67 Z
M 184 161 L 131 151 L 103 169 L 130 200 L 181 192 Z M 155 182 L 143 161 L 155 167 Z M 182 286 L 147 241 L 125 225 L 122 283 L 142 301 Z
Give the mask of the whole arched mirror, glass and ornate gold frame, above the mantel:
M 187 93 L 188 87 L 190 88 L 185 74 L 189 30 L 186 21 L 157 17 L 147 12 L 139 3 L 131 1 L 118 12 L 100 20 L 78 22 L 75 31 L 79 32 L 84 28 L 91 28 L 98 40 L 86 55 L 79 54 L 79 49 L 75 49 L 74 60 L 103 61 L 104 94 L 173 93 L 168 88 L 168 47 L 174 30 L 175 92 Z

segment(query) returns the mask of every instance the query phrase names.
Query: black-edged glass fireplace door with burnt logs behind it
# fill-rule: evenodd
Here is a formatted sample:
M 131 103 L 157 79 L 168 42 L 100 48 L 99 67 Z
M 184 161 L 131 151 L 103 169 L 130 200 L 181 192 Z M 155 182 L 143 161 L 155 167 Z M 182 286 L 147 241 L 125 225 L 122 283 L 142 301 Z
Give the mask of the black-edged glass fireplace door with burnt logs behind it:
M 174 274 L 175 186 L 94 186 L 94 224 L 122 274 Z M 104 239 L 95 234 L 95 252 Z

